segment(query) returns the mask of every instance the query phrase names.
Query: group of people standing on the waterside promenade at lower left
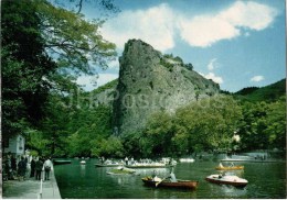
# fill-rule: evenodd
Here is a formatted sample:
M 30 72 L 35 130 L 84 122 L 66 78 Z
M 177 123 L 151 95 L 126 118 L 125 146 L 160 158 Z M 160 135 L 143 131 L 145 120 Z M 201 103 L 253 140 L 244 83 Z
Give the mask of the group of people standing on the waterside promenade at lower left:
M 32 159 L 29 160 L 28 156 L 21 156 L 17 163 L 15 156 L 8 154 L 3 157 L 3 180 L 25 180 L 29 177 L 35 177 L 36 180 L 41 180 L 42 171 L 44 171 L 44 179 L 50 180 L 50 171 L 52 168 L 53 165 L 49 157 L 45 159 L 42 157 L 38 159 L 32 157 Z

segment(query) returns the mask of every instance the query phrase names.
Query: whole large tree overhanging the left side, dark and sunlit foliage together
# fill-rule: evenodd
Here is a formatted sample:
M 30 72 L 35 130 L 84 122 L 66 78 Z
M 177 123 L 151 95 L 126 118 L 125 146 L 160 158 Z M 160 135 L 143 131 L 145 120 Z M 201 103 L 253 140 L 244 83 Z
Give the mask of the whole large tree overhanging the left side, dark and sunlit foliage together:
M 102 24 L 45 0 L 2 2 L 4 138 L 35 130 L 33 133 L 46 134 L 44 138 L 52 134 L 53 140 L 62 142 L 62 125 L 53 125 L 54 115 L 46 119 L 49 97 L 64 91 L 64 98 L 76 87 L 72 81 L 77 75 L 95 74 L 95 68 L 106 68 L 106 62 L 114 58 L 115 45 L 98 32 Z M 43 124 L 45 130 L 36 131 Z M 54 144 L 52 152 L 60 149 Z

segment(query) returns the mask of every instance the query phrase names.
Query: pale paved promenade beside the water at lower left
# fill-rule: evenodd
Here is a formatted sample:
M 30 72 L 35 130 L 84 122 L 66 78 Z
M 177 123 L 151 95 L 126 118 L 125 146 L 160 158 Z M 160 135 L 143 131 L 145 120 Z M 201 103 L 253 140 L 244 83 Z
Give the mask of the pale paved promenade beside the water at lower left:
M 3 199 L 61 199 L 54 173 L 51 171 L 50 180 L 41 181 L 29 178 L 24 181 L 8 180 L 2 182 Z

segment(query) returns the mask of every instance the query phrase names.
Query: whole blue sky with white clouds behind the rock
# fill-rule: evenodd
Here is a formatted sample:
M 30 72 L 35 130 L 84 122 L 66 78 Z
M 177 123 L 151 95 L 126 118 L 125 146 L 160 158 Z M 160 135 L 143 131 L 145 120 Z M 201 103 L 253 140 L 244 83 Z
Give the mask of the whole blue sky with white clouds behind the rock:
M 117 45 L 121 56 L 129 38 L 140 38 L 163 54 L 172 53 L 193 70 L 238 91 L 263 87 L 286 77 L 285 0 L 115 0 L 120 12 L 109 18 L 100 33 Z M 97 15 L 87 2 L 86 18 Z M 118 78 L 114 60 L 98 78 L 77 79 L 87 91 Z

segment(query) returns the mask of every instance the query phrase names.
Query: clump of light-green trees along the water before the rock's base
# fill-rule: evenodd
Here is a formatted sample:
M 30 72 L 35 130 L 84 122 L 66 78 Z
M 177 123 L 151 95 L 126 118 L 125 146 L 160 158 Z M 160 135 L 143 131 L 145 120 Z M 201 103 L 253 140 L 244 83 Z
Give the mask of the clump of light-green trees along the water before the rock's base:
M 141 134 L 144 156 L 179 156 L 203 149 L 230 148 L 241 119 L 241 108 L 231 97 L 202 99 L 170 115 L 155 113 Z

